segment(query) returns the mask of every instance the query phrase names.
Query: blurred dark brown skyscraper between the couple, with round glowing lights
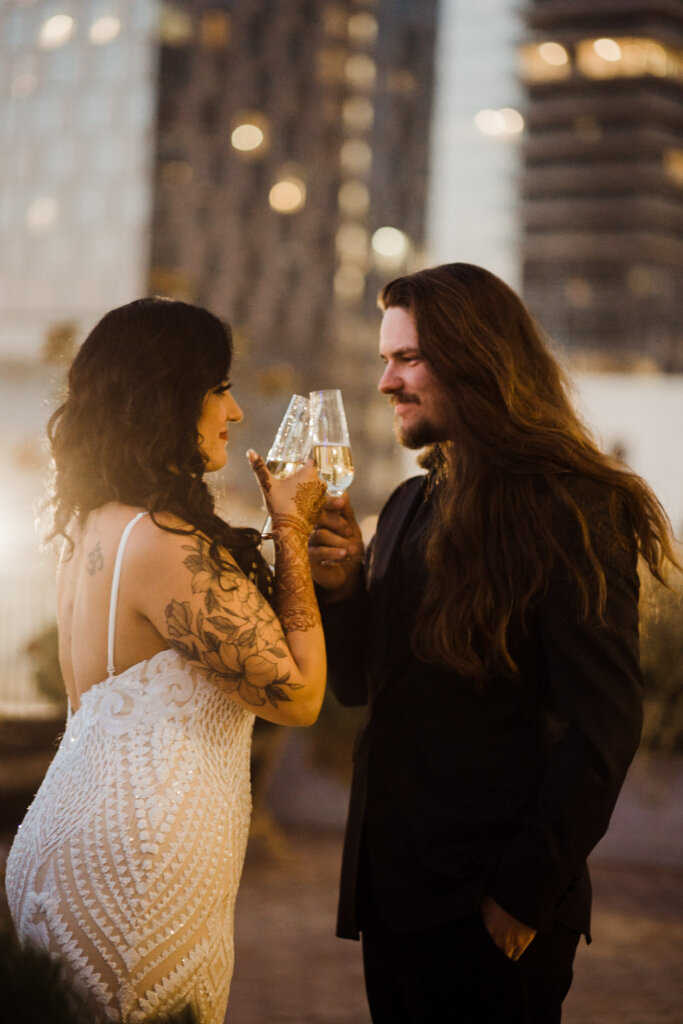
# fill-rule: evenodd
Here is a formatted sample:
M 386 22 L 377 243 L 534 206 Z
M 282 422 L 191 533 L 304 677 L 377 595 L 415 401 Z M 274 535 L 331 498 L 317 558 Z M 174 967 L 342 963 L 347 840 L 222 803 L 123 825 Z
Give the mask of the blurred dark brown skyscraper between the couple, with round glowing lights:
M 292 391 L 341 387 L 374 501 L 375 297 L 422 242 L 434 0 L 189 7 L 162 9 L 153 290 L 230 319 L 268 430 Z

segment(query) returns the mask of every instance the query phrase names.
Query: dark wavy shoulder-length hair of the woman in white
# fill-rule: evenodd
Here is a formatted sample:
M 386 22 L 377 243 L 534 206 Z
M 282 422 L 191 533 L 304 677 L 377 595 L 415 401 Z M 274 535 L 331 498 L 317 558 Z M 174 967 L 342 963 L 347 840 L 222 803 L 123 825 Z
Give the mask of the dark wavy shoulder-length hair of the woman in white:
M 67 399 L 47 434 L 54 463 L 47 540 L 106 502 L 170 512 L 211 541 L 220 567 L 227 548 L 245 572 L 267 590 L 268 572 L 256 549 L 258 534 L 216 514 L 204 479 L 206 459 L 198 422 L 204 398 L 228 377 L 230 329 L 199 306 L 164 298 L 138 299 L 106 313 L 78 351 Z

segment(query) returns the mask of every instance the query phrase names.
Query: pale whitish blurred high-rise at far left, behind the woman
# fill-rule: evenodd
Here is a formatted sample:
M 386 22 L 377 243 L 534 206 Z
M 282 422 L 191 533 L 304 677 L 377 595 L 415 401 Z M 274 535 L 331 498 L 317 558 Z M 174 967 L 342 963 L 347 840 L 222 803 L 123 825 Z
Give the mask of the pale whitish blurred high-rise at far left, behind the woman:
M 0 3 L 0 357 L 143 291 L 154 0 Z

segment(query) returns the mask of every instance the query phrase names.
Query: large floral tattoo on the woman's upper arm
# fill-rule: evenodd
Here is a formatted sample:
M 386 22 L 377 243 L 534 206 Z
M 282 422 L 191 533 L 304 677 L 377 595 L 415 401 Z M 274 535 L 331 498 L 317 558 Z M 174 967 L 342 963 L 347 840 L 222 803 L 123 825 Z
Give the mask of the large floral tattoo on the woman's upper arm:
M 237 566 L 222 571 L 202 537 L 183 545 L 183 564 L 191 573 L 194 594 L 204 595 L 196 615 L 189 601 L 172 600 L 166 607 L 166 629 L 173 647 L 205 672 L 211 683 L 239 693 L 253 708 L 291 701 L 301 689 L 290 682 L 280 664 L 287 657 L 282 639 L 270 640 L 272 611 L 259 591 Z

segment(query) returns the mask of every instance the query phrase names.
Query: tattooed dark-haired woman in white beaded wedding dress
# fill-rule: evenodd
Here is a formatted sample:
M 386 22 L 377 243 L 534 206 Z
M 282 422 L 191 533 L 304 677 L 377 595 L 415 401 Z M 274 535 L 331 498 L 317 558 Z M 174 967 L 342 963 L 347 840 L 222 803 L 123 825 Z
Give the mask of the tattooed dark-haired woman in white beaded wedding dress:
M 256 530 L 216 514 L 205 474 L 242 419 L 230 361 L 206 310 L 131 302 L 83 343 L 48 426 L 70 714 L 6 887 L 88 1022 L 222 1022 L 254 716 L 308 725 L 323 699 L 306 541 L 325 487 L 312 463 L 275 480 L 249 453 L 274 574 Z

